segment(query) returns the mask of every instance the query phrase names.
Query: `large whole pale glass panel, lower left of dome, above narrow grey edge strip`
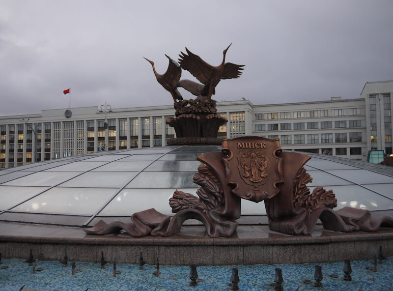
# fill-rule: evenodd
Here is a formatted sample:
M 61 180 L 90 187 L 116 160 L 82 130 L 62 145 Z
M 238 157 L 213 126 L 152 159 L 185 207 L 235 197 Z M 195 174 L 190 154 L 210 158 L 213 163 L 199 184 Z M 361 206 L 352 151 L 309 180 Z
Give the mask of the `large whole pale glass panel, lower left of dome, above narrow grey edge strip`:
M 117 191 L 118 189 L 55 187 L 12 210 L 92 215 Z

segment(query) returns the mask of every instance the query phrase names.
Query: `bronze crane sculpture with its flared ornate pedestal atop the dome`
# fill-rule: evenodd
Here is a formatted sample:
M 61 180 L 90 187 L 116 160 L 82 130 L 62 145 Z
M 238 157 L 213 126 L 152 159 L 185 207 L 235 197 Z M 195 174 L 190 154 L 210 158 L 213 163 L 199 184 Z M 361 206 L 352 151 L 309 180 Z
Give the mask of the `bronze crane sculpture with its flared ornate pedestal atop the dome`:
M 217 138 L 221 125 L 228 120 L 217 114 L 216 101 L 211 97 L 216 93 L 216 86 L 223 79 L 236 79 L 243 73 L 244 65 L 225 62 L 225 56 L 231 44 L 223 51 L 220 65 L 213 66 L 188 48 L 181 52 L 179 63 L 169 58 L 167 71 L 160 75 L 154 67 L 154 62 L 145 58 L 152 65 L 154 75 L 173 98 L 175 117 L 169 117 L 166 123 L 176 132 L 175 139 L 169 139 L 168 145 L 220 145 Z M 189 71 L 197 80 L 180 80 L 181 70 Z M 184 88 L 197 96 L 195 99 L 184 100 L 178 87 Z

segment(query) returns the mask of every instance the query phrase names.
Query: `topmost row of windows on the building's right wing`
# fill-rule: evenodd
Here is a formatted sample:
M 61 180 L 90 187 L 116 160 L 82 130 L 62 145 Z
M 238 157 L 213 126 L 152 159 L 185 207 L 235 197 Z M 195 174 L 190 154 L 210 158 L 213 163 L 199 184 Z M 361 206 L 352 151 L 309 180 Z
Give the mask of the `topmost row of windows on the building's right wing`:
M 255 120 L 264 119 L 286 119 L 286 118 L 305 118 L 305 117 L 327 117 L 327 116 L 353 116 L 361 115 L 361 108 L 347 109 L 325 109 L 295 112 L 275 112 L 275 113 L 257 113 Z

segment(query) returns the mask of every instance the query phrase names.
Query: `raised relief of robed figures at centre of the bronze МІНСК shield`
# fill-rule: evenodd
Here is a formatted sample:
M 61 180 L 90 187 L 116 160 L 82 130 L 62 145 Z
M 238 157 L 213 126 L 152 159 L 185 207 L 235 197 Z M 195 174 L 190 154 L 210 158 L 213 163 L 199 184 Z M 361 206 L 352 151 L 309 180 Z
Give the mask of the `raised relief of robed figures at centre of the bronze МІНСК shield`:
M 263 178 L 267 177 L 267 174 L 265 173 L 267 161 L 262 153 L 250 153 L 248 151 L 244 152 L 240 158 L 240 165 L 244 169 L 243 176 L 245 178 L 249 178 L 249 180 L 253 183 L 262 182 Z

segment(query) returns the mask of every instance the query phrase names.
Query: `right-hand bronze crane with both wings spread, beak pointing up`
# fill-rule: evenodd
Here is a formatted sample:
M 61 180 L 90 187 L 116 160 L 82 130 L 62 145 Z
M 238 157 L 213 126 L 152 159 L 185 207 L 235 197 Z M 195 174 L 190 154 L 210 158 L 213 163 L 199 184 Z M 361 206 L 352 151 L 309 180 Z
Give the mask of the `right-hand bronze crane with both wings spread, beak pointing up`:
M 244 65 L 237 65 L 231 62 L 225 63 L 225 55 L 231 44 L 224 50 L 222 63 L 215 67 L 199 56 L 194 55 L 186 48 L 187 54 L 181 52 L 179 55 L 180 67 L 184 70 L 189 71 L 195 78 L 204 84 L 203 89 L 200 94 L 206 98 L 211 98 L 212 95 L 216 93 L 215 87 L 220 82 L 221 79 L 232 79 L 239 78 L 243 73 Z

